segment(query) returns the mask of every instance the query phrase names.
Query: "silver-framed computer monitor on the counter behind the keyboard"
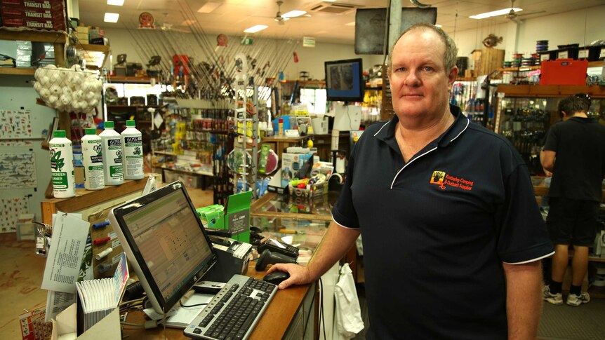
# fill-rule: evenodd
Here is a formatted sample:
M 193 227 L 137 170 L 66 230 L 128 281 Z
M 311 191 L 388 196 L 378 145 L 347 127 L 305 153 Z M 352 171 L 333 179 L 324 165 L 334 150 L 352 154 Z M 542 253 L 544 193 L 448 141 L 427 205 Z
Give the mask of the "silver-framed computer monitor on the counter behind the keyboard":
M 109 222 L 157 313 L 170 311 L 216 263 L 182 182 L 112 209 Z

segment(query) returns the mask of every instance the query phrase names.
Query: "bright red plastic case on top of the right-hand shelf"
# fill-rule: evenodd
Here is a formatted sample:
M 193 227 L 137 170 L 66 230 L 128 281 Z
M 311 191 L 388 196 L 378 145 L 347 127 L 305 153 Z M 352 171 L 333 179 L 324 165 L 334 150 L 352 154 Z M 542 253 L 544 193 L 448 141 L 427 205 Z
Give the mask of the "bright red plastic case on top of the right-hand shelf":
M 544 60 L 540 85 L 586 85 L 588 60 Z

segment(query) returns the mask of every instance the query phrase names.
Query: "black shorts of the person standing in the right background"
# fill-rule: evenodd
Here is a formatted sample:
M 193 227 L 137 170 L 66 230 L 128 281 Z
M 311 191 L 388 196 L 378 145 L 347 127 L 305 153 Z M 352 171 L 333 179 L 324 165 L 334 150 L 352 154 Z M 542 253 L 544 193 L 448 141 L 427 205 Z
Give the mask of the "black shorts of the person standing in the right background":
M 551 197 L 546 224 L 555 245 L 594 244 L 599 224 L 599 202 Z

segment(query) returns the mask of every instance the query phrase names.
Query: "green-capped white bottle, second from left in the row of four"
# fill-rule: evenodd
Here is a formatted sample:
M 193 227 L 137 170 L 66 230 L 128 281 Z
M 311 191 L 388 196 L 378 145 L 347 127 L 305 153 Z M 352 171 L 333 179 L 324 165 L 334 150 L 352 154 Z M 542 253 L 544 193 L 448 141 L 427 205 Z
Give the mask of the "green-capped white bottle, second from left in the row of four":
M 84 165 L 84 189 L 100 190 L 105 188 L 103 175 L 103 144 L 97 135 L 97 129 L 87 128 L 81 139 L 82 164 Z

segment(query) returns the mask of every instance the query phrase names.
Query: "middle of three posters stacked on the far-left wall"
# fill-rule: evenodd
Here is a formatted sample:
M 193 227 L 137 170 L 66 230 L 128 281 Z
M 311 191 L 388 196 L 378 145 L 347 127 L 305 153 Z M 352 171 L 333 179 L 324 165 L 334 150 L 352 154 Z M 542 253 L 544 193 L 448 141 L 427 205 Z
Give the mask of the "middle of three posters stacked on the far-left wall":
M 33 152 L 0 153 L 0 189 L 35 188 L 36 157 Z

